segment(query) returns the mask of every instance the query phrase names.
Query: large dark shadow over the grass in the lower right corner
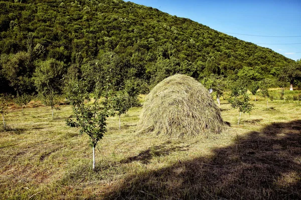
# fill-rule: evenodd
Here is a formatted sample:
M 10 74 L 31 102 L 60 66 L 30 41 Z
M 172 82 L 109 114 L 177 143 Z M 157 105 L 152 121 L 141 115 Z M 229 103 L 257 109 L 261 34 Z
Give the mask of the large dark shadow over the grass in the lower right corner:
M 104 198 L 301 199 L 301 120 L 236 137 L 210 158 L 125 177 Z

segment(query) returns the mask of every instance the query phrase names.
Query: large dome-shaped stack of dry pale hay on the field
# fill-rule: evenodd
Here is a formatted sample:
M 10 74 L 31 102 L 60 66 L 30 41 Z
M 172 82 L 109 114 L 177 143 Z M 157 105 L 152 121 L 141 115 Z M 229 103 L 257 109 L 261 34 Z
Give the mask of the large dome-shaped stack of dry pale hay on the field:
M 173 137 L 219 133 L 224 128 L 209 91 L 193 77 L 176 74 L 145 97 L 138 130 Z

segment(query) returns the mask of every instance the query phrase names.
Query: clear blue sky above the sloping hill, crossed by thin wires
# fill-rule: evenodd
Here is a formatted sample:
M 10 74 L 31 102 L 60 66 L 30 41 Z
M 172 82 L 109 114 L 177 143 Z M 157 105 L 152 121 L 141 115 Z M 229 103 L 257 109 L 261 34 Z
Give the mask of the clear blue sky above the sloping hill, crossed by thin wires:
M 301 0 L 130 1 L 155 7 L 172 15 L 190 18 L 225 33 L 299 36 L 260 37 L 227 33 L 239 39 L 268 47 L 291 59 L 301 58 Z

